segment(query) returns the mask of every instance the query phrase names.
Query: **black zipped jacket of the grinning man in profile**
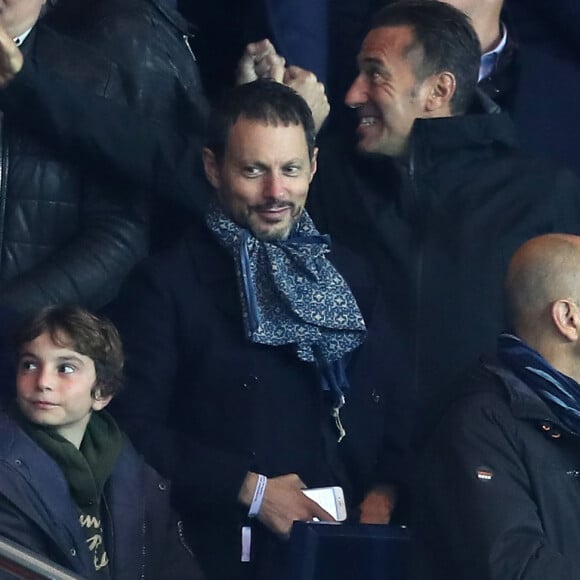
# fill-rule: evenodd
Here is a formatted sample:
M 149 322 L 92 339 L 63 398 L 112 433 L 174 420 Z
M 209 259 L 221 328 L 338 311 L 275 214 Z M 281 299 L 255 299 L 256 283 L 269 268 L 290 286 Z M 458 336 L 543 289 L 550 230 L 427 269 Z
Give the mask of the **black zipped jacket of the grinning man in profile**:
M 417 120 L 406 165 L 339 147 L 321 143 L 309 210 L 374 262 L 404 353 L 392 380 L 427 412 L 504 330 L 513 252 L 536 235 L 580 234 L 580 182 L 521 152 L 504 114 Z

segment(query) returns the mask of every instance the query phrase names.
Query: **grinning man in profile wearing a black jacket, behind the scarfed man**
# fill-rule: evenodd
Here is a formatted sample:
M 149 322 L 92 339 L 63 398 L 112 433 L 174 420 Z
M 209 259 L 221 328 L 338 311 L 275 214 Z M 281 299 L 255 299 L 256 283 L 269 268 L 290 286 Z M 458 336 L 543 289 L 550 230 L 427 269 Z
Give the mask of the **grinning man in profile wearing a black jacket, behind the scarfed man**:
M 321 138 L 309 207 L 372 259 L 404 353 L 393 379 L 428 410 L 502 330 L 514 250 L 580 233 L 580 183 L 522 153 L 510 119 L 480 100 L 479 42 L 452 6 L 387 6 L 358 62 L 346 95 L 358 150 L 351 135 Z

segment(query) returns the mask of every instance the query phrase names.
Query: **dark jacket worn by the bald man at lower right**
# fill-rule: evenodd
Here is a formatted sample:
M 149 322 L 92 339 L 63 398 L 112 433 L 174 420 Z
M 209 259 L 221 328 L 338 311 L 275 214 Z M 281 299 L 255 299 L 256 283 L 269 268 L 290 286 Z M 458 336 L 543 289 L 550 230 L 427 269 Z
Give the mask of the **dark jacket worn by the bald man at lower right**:
M 412 578 L 578 578 L 580 439 L 495 359 L 457 387 L 417 477 Z

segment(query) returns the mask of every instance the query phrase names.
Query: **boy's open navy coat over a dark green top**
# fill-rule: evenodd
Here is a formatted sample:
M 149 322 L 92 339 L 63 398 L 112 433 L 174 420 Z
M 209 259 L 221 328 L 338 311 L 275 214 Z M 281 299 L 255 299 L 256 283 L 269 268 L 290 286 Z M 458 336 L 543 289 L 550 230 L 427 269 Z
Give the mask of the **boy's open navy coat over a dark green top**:
M 167 481 L 127 440 L 104 495 L 105 544 L 115 580 L 202 577 L 170 509 Z M 61 469 L 5 414 L 0 414 L 0 533 L 83 578 L 97 578 Z

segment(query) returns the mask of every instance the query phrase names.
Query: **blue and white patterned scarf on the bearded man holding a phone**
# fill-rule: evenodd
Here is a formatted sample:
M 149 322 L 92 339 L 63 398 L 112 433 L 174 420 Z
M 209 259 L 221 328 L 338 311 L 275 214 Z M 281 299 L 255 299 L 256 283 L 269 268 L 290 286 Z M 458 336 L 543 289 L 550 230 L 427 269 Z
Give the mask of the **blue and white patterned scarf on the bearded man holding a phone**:
M 317 365 L 335 406 L 342 406 L 345 357 L 364 341 L 366 327 L 350 288 L 326 259 L 328 236 L 318 233 L 306 212 L 287 240 L 258 240 L 217 204 L 206 222 L 234 257 L 247 338 L 294 344 L 300 360 Z

